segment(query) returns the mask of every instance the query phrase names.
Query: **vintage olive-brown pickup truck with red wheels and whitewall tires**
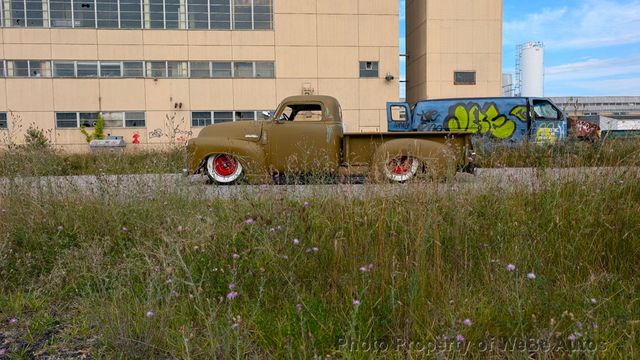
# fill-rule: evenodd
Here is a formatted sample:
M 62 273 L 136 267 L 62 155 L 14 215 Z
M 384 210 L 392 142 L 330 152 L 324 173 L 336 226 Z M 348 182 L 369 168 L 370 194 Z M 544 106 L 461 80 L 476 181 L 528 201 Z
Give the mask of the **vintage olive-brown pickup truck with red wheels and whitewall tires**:
M 187 143 L 185 174 L 204 172 L 218 184 L 311 173 L 406 182 L 474 168 L 472 134 L 344 133 L 340 104 L 330 96 L 289 97 L 266 115 L 204 128 Z

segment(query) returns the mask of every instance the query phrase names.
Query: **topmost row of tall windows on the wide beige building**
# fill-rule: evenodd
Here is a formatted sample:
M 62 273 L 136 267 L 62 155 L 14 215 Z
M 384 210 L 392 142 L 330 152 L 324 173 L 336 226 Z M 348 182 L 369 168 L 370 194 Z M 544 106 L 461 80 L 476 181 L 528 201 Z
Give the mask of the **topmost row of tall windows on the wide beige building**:
M 2 26 L 13 27 L 273 29 L 272 0 L 4 0 L 0 8 Z

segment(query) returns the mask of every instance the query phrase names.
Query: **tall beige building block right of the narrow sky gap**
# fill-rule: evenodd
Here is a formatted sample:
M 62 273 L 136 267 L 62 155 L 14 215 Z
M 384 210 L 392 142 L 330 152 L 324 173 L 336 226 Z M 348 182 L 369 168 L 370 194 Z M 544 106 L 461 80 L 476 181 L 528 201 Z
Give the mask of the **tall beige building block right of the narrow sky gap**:
M 407 100 L 502 95 L 502 0 L 407 0 Z

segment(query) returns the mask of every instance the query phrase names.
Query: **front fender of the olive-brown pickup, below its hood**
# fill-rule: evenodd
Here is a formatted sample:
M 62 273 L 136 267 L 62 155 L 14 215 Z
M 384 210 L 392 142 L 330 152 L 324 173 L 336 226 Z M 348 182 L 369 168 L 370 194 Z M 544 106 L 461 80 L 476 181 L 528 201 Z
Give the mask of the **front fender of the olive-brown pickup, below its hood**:
M 258 182 L 268 177 L 266 156 L 259 144 L 235 139 L 216 140 L 215 144 L 212 139 L 209 139 L 208 142 L 211 145 L 201 145 L 198 149 L 199 154 L 196 154 L 200 159 L 200 166 L 204 166 L 205 160 L 211 155 L 228 154 L 238 158 L 248 181 Z

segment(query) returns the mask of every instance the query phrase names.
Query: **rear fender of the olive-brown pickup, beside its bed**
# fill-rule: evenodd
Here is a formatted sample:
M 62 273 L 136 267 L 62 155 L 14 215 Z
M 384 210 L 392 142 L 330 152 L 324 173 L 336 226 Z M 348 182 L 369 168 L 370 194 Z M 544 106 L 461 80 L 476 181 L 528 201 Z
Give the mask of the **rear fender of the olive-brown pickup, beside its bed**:
M 448 144 L 421 139 L 394 139 L 378 147 L 371 160 L 371 170 L 374 177 L 382 176 L 384 166 L 398 156 L 412 156 L 418 159 L 423 170 L 432 179 L 441 179 L 455 173 L 456 152 Z

